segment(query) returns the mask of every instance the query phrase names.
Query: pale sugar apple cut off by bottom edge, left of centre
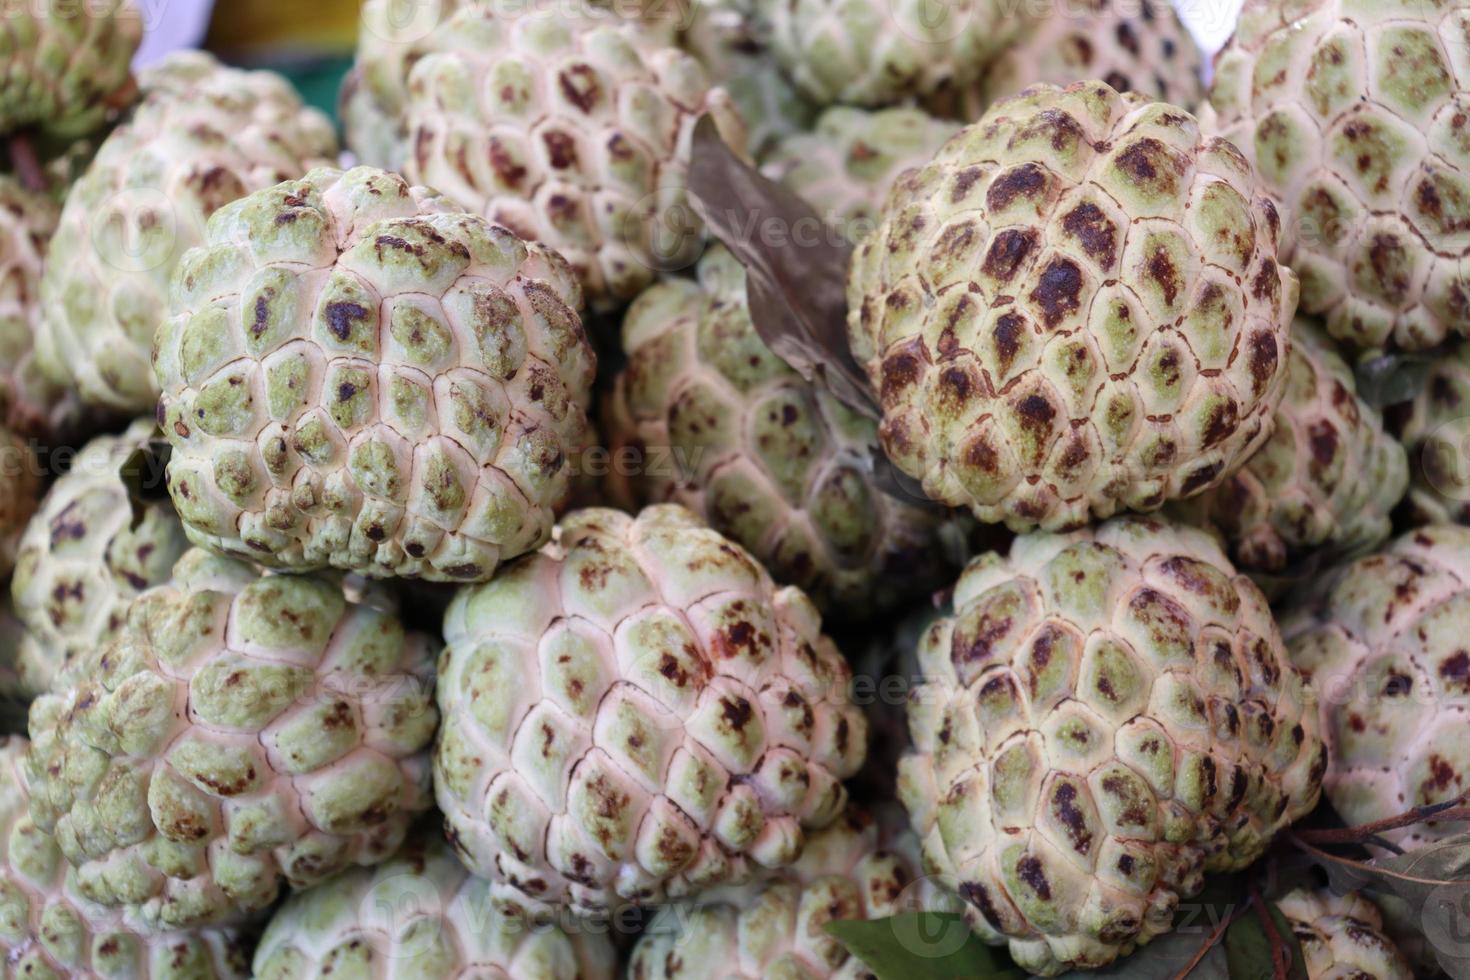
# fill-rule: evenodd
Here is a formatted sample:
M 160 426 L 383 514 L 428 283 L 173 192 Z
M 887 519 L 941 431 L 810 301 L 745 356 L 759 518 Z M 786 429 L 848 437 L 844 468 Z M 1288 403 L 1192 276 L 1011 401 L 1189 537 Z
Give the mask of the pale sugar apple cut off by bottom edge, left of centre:
M 293 895 L 260 937 L 254 977 L 613 980 L 607 929 L 523 921 L 423 830 L 391 861 Z

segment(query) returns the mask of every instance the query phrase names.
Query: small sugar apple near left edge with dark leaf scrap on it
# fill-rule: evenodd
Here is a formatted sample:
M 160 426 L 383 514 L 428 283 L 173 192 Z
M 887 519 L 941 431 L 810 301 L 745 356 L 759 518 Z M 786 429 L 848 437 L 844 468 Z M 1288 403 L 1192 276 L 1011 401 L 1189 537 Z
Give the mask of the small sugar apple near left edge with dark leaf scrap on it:
M 88 442 L 47 491 L 21 538 L 15 605 L 25 621 L 16 669 L 35 696 L 71 686 L 71 666 L 122 627 L 141 592 L 169 580 L 188 548 L 163 488 L 151 419 Z

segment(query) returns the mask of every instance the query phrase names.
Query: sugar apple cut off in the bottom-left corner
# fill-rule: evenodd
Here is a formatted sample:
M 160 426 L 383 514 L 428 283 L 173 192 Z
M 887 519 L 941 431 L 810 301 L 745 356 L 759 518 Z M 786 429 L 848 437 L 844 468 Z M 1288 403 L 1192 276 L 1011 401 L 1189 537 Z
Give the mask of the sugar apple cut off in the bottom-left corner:
M 247 939 L 231 929 L 159 932 L 88 901 L 56 840 L 29 814 L 26 742 L 0 739 L 0 954 L 26 980 L 244 980 Z

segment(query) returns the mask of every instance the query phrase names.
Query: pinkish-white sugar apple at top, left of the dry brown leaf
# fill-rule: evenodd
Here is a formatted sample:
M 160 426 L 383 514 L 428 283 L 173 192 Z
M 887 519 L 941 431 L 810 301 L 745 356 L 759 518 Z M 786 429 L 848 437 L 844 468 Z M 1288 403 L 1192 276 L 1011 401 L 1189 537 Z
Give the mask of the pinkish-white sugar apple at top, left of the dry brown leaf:
M 576 269 L 609 307 L 698 256 L 694 123 L 744 145 L 729 96 L 666 32 L 566 12 L 467 7 L 416 48 L 404 173 Z

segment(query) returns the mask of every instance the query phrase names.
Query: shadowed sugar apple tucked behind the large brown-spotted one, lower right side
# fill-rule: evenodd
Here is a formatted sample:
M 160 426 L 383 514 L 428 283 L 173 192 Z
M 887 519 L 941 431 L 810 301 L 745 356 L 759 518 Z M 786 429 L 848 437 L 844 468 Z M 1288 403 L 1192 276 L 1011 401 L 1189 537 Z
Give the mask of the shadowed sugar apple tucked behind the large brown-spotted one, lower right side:
M 1407 489 L 1404 447 L 1358 397 L 1333 342 L 1298 317 L 1272 438 L 1223 483 L 1175 511 L 1219 527 L 1242 570 L 1279 573 L 1317 551 L 1352 557 L 1383 544 Z

